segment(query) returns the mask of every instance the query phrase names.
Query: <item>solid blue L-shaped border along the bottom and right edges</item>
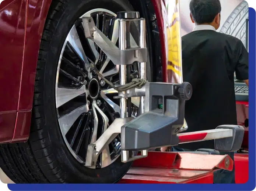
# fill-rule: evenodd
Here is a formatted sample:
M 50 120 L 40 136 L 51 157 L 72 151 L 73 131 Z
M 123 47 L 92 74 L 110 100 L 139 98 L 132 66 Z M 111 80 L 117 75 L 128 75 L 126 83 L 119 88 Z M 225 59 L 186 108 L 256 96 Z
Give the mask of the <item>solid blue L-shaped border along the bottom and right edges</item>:
M 250 21 L 256 20 L 256 10 L 252 7 L 249 8 L 249 19 Z M 250 42 L 256 43 L 256 25 L 250 25 L 249 29 L 250 34 Z M 249 43 L 251 52 L 254 52 L 254 48 L 256 49 L 255 44 Z M 256 75 L 253 73 L 256 68 L 256 54 L 249 55 L 249 78 L 250 84 L 255 84 Z M 256 69 L 255 69 L 256 71 Z M 256 108 L 256 98 L 254 87 L 250 88 L 250 107 L 249 107 L 249 115 L 250 115 L 250 126 L 253 127 L 253 124 L 256 124 L 256 118 L 253 111 Z M 252 99 L 251 99 L 252 98 Z M 251 128 L 249 134 L 249 144 L 250 149 L 253 151 L 253 147 L 256 146 L 256 129 Z M 49 191 L 49 190 L 122 190 L 122 191 L 130 191 L 130 190 L 207 190 L 207 191 L 216 191 L 216 190 L 245 190 L 252 191 L 256 187 L 255 182 L 255 172 L 256 172 L 256 153 L 251 152 L 249 157 L 249 181 L 246 184 L 8 184 L 7 188 L 11 191 L 22 191 L 22 190 L 35 190 L 35 191 Z

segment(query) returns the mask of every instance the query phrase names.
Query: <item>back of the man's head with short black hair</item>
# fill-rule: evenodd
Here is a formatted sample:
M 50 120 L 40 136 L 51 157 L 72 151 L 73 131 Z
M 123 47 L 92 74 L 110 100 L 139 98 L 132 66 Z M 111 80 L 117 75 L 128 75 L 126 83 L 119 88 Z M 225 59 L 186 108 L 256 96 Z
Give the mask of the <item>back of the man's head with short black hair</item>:
M 216 30 L 220 27 L 220 0 L 191 0 L 189 9 L 196 25 L 212 25 Z

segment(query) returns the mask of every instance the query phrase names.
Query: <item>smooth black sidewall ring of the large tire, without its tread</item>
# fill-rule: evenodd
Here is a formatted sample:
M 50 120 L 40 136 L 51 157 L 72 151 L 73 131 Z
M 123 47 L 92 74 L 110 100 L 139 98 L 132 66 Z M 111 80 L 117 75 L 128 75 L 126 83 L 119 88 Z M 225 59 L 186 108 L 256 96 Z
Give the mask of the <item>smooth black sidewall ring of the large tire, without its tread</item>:
M 52 32 L 50 50 L 47 52 L 43 80 L 43 112 L 45 119 L 44 130 L 47 131 L 51 149 L 66 174 L 67 183 L 113 183 L 119 180 L 129 169 L 131 162 L 122 163 L 120 157 L 111 165 L 102 169 L 90 169 L 80 164 L 67 148 L 59 123 L 55 105 L 55 83 L 59 56 L 69 30 L 75 21 L 85 12 L 94 8 L 104 8 L 112 12 L 132 10 L 127 1 L 123 0 L 70 0 L 63 4 L 63 13 Z M 55 18 L 54 18 L 55 19 Z

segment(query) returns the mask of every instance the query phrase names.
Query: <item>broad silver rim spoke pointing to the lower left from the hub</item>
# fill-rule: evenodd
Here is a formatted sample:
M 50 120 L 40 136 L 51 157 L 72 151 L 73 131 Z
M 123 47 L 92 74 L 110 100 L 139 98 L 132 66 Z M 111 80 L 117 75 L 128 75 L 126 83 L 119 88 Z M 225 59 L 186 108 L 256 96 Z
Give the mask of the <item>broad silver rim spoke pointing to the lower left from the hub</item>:
M 83 114 L 88 112 L 88 106 L 84 105 L 81 106 L 70 113 L 64 115 L 63 117 L 59 118 L 59 124 L 62 126 L 62 133 L 63 135 L 66 135 L 71 126 L 74 124 L 74 122 L 78 119 L 78 117 Z

